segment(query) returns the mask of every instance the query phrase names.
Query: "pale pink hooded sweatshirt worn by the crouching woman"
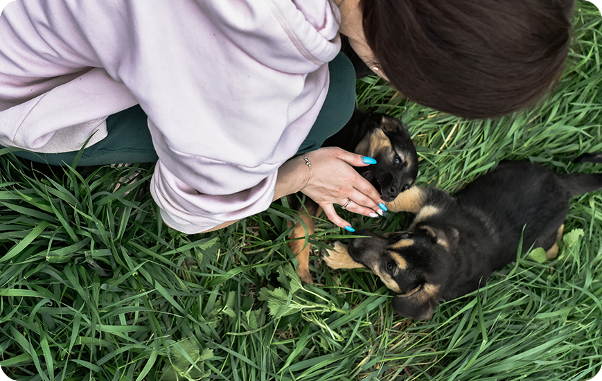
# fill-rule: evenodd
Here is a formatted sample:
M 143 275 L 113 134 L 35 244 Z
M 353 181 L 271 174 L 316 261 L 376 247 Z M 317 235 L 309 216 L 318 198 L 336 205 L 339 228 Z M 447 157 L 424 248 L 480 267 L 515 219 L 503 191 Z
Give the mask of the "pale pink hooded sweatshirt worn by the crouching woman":
M 139 103 L 161 216 L 198 233 L 267 209 L 328 91 L 332 0 L 17 0 L 0 17 L 0 145 L 79 150 Z

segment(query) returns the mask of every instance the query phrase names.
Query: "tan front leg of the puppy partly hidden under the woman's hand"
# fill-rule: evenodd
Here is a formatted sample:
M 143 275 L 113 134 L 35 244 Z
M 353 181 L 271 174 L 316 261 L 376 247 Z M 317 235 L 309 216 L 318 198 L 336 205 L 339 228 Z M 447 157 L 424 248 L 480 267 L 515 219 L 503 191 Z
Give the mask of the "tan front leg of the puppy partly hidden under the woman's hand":
M 306 201 L 306 209 L 309 214 L 299 213 L 299 218 L 303 220 L 303 224 L 307 227 L 307 235 L 311 236 L 315 233 L 314 218 L 322 213 L 321 207 L 313 202 L 312 200 Z M 310 273 L 310 253 L 312 251 L 312 245 L 304 238 L 306 236 L 306 229 L 303 227 L 301 222 L 297 222 L 290 233 L 290 239 L 288 247 L 290 247 L 293 254 L 296 255 L 296 259 L 299 261 L 299 267 L 297 267 L 296 273 L 304 283 L 312 283 L 312 274 Z

